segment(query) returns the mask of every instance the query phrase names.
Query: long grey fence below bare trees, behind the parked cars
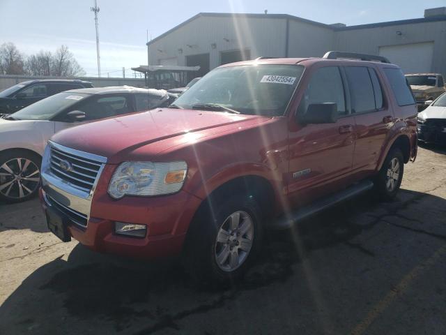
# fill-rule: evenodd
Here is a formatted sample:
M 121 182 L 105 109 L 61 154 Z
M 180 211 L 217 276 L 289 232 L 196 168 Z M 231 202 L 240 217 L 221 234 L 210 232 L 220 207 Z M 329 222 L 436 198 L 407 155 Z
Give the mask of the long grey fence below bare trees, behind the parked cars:
M 27 75 L 0 75 L 0 91 L 7 89 L 8 87 L 14 86 L 19 82 L 26 82 L 27 80 L 36 79 L 79 79 L 91 82 L 94 87 L 107 87 L 107 86 L 133 86 L 133 87 L 144 87 L 144 79 L 138 78 L 98 78 L 98 77 L 33 77 Z

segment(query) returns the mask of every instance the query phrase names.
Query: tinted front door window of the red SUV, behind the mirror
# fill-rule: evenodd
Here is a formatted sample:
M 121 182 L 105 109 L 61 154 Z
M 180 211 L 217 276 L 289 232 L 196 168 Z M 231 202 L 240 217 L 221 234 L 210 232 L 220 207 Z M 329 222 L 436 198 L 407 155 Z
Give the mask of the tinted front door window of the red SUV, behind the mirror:
M 336 103 L 338 113 L 346 114 L 344 84 L 337 66 L 316 70 L 300 101 L 298 113 L 305 114 L 312 103 Z

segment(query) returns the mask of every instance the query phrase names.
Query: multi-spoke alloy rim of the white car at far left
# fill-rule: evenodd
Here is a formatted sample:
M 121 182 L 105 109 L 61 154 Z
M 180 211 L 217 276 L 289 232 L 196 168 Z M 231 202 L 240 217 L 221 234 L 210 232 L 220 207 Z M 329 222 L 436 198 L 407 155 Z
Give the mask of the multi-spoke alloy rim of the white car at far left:
M 40 169 L 28 158 L 13 158 L 0 165 L 0 193 L 6 198 L 26 198 L 39 183 Z

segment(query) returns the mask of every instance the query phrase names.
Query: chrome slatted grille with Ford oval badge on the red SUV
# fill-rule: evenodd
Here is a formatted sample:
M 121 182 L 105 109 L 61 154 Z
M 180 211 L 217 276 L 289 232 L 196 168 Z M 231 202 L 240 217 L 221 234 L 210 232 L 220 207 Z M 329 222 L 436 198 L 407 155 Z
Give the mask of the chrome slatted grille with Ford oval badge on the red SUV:
M 49 168 L 56 177 L 75 188 L 89 192 L 95 184 L 102 163 L 51 147 Z M 63 168 L 69 165 L 70 168 Z

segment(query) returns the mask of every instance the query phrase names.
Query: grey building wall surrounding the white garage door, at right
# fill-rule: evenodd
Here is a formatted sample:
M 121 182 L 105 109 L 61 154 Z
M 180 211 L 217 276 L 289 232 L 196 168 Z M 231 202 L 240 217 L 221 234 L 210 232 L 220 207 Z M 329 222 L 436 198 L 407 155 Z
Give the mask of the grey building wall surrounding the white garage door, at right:
M 397 34 L 401 31 L 401 36 Z M 334 49 L 378 54 L 379 47 L 433 41 L 431 72 L 446 75 L 446 21 L 336 31 Z

